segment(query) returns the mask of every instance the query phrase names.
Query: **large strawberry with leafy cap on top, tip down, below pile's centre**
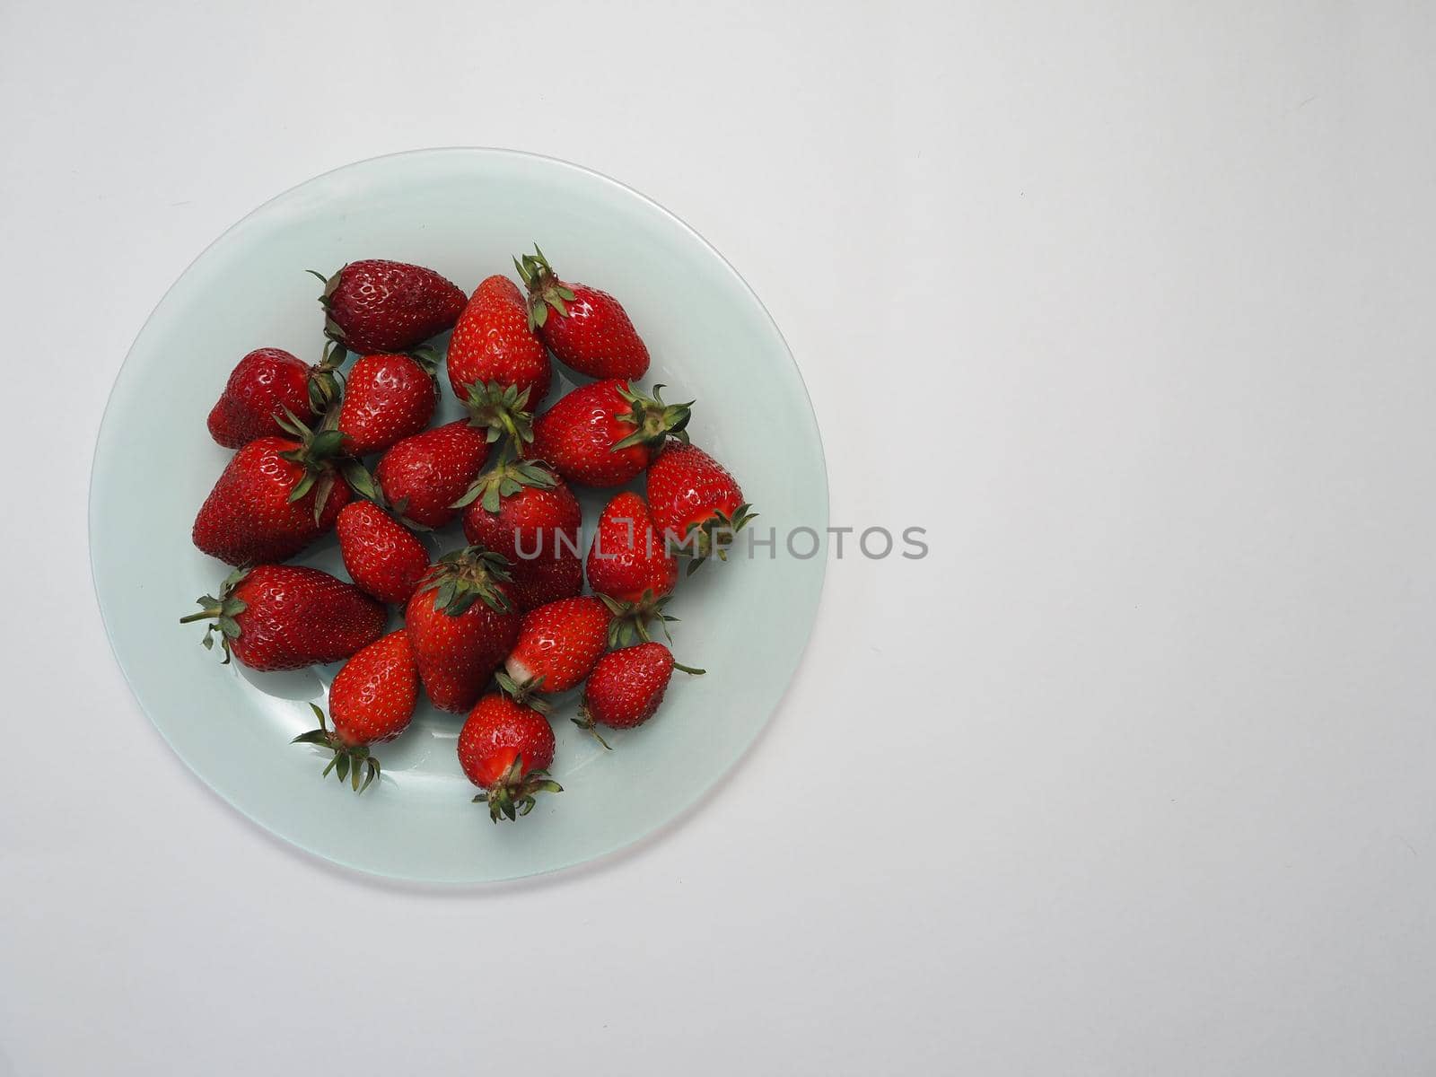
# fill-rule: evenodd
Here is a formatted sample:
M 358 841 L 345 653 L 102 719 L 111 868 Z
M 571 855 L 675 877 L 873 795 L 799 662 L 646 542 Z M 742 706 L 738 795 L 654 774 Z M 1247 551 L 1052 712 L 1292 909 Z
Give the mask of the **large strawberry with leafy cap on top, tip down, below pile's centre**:
M 405 610 L 419 679 L 442 711 L 467 711 L 518 638 L 504 559 L 477 546 L 439 559 Z

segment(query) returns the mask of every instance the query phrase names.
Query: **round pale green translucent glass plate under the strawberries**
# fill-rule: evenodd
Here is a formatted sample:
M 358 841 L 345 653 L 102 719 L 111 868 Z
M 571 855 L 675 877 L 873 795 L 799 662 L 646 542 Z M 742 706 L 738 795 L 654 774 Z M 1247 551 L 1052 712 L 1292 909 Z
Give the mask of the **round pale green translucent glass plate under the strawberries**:
M 274 346 L 316 362 L 319 283 L 368 257 L 415 261 L 472 290 L 510 257 L 544 254 L 570 280 L 619 296 L 653 365 L 645 385 L 696 399 L 694 442 L 722 460 L 774 547 L 740 541 L 728 563 L 679 583 L 673 653 L 708 669 L 675 673 L 658 717 L 605 751 L 554 708 L 557 796 L 494 826 L 472 804 L 454 742 L 461 718 L 424 704 L 376 754 L 362 797 L 323 754 L 290 745 L 313 725 L 337 666 L 254 673 L 221 666 L 200 626 L 178 619 L 227 573 L 190 541 L 195 510 L 230 454 L 205 415 L 246 352 Z M 445 343 L 444 340 L 438 342 Z M 561 373 L 561 368 L 556 370 Z M 556 379 L 550 401 L 574 379 Z M 442 416 L 458 414 L 447 382 Z M 640 488 L 640 487 L 639 487 Z M 580 495 L 592 526 L 605 495 Z M 391 877 L 470 883 L 549 872 L 626 846 L 691 806 L 752 742 L 798 663 L 824 557 L 793 528 L 827 526 L 827 475 L 803 379 L 757 296 L 696 233 L 648 198 L 570 164 L 495 149 L 435 149 L 363 161 L 251 213 L 175 283 L 119 372 L 90 482 L 95 589 L 119 665 L 180 757 L 260 826 L 340 864 Z M 434 537 L 462 544 L 457 527 Z M 332 536 L 299 563 L 339 576 Z

